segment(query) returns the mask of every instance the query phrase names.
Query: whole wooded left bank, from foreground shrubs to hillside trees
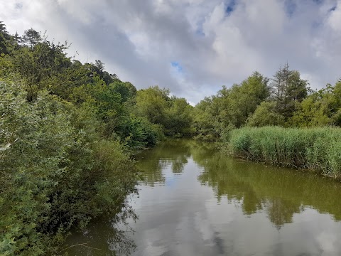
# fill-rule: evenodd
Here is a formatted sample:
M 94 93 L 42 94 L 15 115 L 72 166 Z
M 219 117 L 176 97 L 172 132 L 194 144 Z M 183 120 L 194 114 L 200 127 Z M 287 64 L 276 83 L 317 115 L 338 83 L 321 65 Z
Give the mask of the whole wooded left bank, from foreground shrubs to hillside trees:
M 71 228 L 134 218 L 131 154 L 191 132 L 185 99 L 136 90 L 100 60 L 67 57 L 67 47 L 0 22 L 1 255 L 60 255 Z

